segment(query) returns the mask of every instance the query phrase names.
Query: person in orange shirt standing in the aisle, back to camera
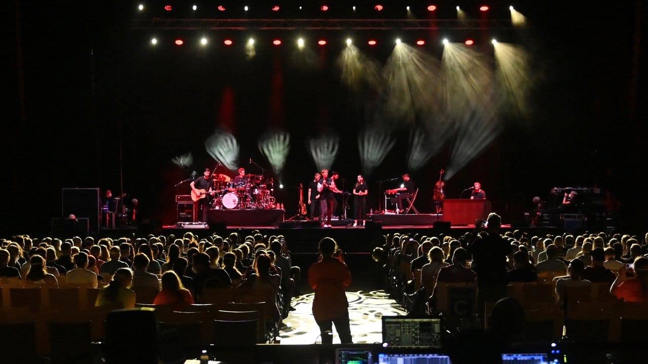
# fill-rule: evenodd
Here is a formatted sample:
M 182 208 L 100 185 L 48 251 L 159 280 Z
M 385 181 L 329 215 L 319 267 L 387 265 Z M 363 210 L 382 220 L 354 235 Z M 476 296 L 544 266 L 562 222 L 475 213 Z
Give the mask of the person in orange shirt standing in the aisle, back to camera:
M 313 316 L 319 326 L 322 344 L 332 344 L 332 325 L 341 343 L 353 343 L 349 324 L 349 302 L 344 291 L 351 284 L 351 272 L 343 262 L 343 252 L 335 240 L 319 241 L 319 261 L 308 269 L 308 283 L 315 290 Z

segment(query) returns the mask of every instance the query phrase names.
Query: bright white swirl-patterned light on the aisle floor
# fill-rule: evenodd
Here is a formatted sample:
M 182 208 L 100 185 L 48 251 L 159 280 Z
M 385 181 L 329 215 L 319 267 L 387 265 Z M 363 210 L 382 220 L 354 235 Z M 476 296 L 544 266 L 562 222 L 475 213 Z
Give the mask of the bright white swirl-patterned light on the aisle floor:
M 320 342 L 319 328 L 312 314 L 313 297 L 314 293 L 308 293 L 292 299 L 295 310 L 283 321 L 282 344 Z M 347 292 L 347 301 L 354 343 L 379 343 L 382 340 L 382 316 L 406 314 L 400 304 L 382 290 Z M 340 343 L 333 327 L 333 343 Z

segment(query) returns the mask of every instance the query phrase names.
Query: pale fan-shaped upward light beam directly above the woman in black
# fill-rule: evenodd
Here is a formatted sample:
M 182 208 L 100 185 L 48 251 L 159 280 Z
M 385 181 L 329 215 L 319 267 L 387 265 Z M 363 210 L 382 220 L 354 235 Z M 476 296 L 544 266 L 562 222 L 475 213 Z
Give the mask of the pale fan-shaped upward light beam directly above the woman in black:
M 371 176 L 394 144 L 396 144 L 396 141 L 388 130 L 373 127 L 362 131 L 358 135 L 358 151 L 360 152 L 362 172 L 367 176 Z

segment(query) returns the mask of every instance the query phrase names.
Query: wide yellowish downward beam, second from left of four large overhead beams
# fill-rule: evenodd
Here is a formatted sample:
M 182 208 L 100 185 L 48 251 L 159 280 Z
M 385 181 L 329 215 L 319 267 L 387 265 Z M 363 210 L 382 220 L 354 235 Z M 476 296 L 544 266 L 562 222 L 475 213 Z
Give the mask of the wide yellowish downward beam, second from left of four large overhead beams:
M 434 57 L 400 43 L 389 55 L 382 72 L 386 82 L 385 111 L 391 119 L 411 123 L 420 113 L 439 111 L 441 78 L 439 62 Z

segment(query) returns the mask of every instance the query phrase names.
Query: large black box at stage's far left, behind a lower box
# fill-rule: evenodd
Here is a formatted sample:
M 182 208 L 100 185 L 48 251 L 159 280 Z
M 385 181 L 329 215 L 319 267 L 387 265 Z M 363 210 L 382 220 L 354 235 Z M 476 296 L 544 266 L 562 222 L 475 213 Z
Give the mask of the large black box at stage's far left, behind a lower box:
M 87 218 L 90 234 L 99 233 L 100 206 L 99 188 L 61 188 L 61 217 L 74 214 L 76 218 Z

